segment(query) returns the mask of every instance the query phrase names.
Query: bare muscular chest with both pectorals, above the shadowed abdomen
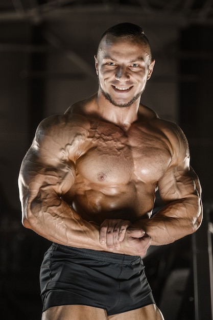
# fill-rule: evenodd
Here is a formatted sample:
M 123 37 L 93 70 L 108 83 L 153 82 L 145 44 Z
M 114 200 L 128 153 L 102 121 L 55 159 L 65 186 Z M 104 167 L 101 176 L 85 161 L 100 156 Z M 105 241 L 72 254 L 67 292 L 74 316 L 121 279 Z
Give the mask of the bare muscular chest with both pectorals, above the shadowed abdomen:
M 77 179 L 117 186 L 143 181 L 155 184 L 167 170 L 171 153 L 164 136 L 155 131 L 97 128 L 86 152 L 76 163 Z

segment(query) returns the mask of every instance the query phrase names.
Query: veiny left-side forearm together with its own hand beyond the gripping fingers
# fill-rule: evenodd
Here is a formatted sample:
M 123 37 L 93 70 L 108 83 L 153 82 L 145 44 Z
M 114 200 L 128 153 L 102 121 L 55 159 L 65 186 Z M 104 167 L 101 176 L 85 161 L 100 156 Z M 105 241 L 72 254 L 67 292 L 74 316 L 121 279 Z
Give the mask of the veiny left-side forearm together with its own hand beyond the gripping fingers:
M 40 200 L 37 198 L 31 203 L 24 224 L 40 236 L 67 246 L 133 256 L 146 254 L 150 238 L 144 237 L 141 230 L 128 231 L 118 248 L 109 247 L 100 241 L 99 225 L 83 220 L 62 199 L 48 195 L 48 198 Z

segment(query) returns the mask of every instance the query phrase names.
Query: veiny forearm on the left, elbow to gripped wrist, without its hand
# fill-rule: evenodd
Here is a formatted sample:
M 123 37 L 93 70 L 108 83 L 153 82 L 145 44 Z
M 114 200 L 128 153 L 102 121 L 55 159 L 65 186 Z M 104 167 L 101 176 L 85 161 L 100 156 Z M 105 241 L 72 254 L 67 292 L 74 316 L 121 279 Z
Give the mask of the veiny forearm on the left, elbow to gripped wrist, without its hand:
M 99 226 L 83 220 L 56 195 L 40 191 L 29 201 L 23 225 L 40 236 L 63 245 L 103 250 Z

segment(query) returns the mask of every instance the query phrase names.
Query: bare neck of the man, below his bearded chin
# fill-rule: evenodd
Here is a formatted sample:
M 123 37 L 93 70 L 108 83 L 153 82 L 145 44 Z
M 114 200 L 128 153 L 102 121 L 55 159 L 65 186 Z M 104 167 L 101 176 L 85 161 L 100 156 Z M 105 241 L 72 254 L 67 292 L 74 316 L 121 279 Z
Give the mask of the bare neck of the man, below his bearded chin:
M 98 113 L 101 118 L 124 129 L 128 129 L 137 120 L 139 103 L 140 98 L 128 107 L 119 107 L 109 102 L 100 90 L 97 94 Z

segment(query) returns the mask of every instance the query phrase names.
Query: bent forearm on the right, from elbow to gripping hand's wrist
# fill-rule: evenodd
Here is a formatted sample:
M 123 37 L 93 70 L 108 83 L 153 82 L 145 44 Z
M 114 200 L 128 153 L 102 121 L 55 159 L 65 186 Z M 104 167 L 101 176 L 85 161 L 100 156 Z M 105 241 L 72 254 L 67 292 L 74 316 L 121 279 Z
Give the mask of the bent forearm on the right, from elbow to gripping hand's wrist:
M 150 219 L 139 219 L 133 226 L 141 227 L 151 237 L 151 245 L 172 243 L 194 233 L 202 220 L 202 207 L 199 199 L 174 201 Z

